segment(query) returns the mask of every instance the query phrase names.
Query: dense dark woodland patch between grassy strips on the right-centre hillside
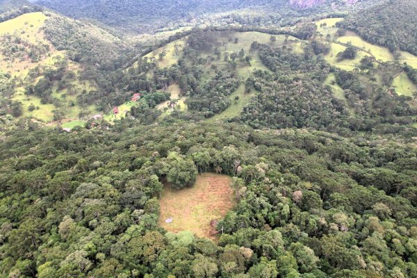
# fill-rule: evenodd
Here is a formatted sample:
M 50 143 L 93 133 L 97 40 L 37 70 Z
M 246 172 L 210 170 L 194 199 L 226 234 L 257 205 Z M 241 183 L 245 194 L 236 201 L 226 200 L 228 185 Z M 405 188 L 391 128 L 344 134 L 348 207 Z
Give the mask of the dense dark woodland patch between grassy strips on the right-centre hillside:
M 309 54 L 262 45 L 259 55 L 273 73 L 254 72 L 254 89 L 262 92 L 243 109 L 240 120 L 256 128 L 329 126 L 346 114 L 341 101 L 322 85 L 329 67 Z

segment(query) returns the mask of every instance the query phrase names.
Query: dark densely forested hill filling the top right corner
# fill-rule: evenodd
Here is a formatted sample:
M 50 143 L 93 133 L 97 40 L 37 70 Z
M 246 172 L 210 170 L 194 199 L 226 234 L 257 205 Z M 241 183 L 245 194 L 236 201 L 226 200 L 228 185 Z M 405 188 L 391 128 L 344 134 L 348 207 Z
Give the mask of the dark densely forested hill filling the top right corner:
M 356 31 L 368 42 L 417 55 L 417 7 L 414 1 L 384 0 L 350 13 L 340 26 Z

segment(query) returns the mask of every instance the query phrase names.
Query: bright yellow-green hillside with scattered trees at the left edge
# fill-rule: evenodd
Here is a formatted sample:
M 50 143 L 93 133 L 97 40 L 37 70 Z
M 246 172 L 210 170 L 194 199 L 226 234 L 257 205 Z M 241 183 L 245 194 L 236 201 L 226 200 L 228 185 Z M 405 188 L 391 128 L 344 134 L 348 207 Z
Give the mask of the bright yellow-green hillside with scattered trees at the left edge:
M 85 97 L 106 94 L 97 70 L 114 69 L 117 51 L 127 54 L 126 44 L 106 31 L 42 12 L 1 22 L 0 41 L 1 115 L 43 123 L 97 113 Z

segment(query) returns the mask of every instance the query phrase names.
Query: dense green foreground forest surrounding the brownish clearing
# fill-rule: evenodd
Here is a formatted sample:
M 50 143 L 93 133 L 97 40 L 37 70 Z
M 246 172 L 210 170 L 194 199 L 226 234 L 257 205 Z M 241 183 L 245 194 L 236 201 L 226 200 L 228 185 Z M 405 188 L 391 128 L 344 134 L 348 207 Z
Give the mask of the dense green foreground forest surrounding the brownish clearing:
M 1 276 L 416 277 L 412 142 L 129 121 L 0 142 Z M 157 225 L 197 171 L 234 177 L 218 243 Z

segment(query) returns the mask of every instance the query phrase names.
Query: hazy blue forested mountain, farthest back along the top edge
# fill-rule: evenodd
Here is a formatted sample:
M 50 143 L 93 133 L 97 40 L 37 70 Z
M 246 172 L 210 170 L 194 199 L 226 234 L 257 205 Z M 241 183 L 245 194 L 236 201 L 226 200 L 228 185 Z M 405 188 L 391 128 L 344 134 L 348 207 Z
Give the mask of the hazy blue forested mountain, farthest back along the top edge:
M 36 3 L 74 18 L 94 19 L 133 31 L 149 31 L 177 19 L 250 6 L 280 6 L 288 4 L 288 0 L 40 0 Z

